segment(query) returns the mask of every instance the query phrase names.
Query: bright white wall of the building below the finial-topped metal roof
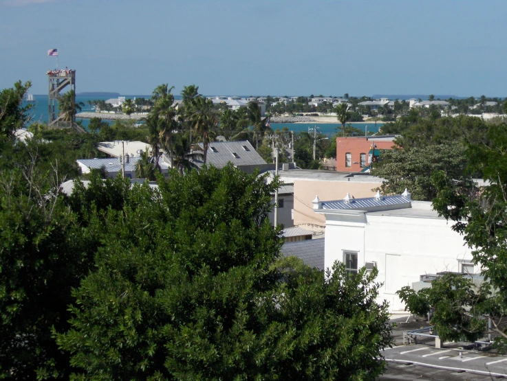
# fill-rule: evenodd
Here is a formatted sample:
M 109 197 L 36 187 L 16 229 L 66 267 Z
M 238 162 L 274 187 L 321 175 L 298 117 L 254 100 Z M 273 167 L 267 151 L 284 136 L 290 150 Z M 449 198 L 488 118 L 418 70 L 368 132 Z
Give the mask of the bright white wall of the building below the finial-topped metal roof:
M 376 262 L 377 281 L 383 284 L 378 299 L 387 300 L 393 312 L 404 310 L 397 290 L 419 281 L 420 275 L 460 271 L 460 260 L 472 259 L 452 222 L 442 218 L 357 212 L 325 216 L 325 268 L 343 261 L 343 251 L 358 253 L 359 268 Z M 474 270 L 479 273 L 477 266 Z

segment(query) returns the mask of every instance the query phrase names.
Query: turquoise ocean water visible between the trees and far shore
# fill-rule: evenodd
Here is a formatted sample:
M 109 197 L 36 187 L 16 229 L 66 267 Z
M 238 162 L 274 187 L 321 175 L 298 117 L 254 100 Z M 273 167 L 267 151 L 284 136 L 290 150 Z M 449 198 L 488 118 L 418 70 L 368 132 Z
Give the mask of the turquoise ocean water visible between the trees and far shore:
M 149 98 L 151 95 L 125 95 L 126 97 L 133 98 L 133 97 L 144 97 Z M 32 116 L 32 120 L 30 124 L 32 123 L 47 123 L 47 95 L 34 95 L 35 103 L 34 107 L 30 111 L 30 114 Z M 108 100 L 110 97 L 83 97 L 80 95 L 76 96 L 76 102 L 83 102 L 85 106 L 82 107 L 83 112 L 91 111 L 93 110 L 90 108 L 88 101 L 92 100 Z M 175 98 L 180 98 L 179 95 L 175 95 Z M 84 126 L 88 126 L 89 119 L 78 119 L 83 121 Z M 289 130 L 294 132 L 301 132 L 301 131 L 308 131 L 308 128 L 314 128 L 314 126 L 317 126 L 321 133 L 323 135 L 332 136 L 336 134 L 336 127 L 341 126 L 338 122 L 335 123 L 272 123 L 271 128 L 273 130 L 281 130 L 283 127 L 287 127 Z M 354 123 L 352 124 L 353 127 L 358 128 L 361 131 L 364 131 L 365 128 L 368 132 L 378 132 L 378 129 L 380 126 L 382 126 L 382 123 Z

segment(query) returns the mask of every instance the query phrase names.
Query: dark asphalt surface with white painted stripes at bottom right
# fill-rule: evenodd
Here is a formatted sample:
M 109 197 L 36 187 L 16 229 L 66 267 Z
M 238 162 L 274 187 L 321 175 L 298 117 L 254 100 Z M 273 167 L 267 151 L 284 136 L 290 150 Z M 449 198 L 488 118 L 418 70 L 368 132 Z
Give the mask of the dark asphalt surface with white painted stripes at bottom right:
M 380 380 L 492 380 L 507 378 L 507 356 L 430 345 L 400 345 L 382 352 Z

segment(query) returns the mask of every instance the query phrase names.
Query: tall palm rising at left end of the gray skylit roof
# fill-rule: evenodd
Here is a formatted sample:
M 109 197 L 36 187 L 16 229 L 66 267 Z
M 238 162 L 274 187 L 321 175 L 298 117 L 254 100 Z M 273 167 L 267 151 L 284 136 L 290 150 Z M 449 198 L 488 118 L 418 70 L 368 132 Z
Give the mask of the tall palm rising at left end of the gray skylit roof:
M 208 143 L 213 137 L 218 124 L 218 117 L 213 108 L 213 101 L 208 100 L 202 95 L 195 97 L 194 106 L 191 111 L 190 121 L 195 133 L 202 137 L 204 148 L 204 164 L 208 153 Z

